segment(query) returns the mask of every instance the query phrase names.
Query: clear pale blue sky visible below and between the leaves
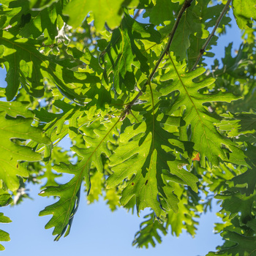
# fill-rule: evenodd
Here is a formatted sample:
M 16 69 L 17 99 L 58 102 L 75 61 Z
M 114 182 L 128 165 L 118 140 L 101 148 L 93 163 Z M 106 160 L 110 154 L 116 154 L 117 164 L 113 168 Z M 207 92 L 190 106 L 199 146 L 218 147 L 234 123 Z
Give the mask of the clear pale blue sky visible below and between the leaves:
M 225 46 L 233 43 L 233 52 L 238 50 L 241 39 L 240 31 L 233 20 L 233 28 L 227 29 L 227 34 L 218 41 L 214 47 L 217 58 L 224 56 Z M 214 59 L 210 59 L 211 64 Z M 5 71 L 0 69 L 0 86 L 6 86 L 4 81 Z M 67 145 L 66 145 L 67 146 Z M 4 215 L 12 219 L 12 223 L 1 225 L 1 229 L 10 233 L 11 241 L 2 243 L 6 250 L 2 255 L 163 255 L 167 253 L 173 256 L 197 256 L 206 255 L 209 250 L 214 250 L 222 244 L 221 237 L 214 235 L 214 222 L 217 219 L 215 212 L 219 206 L 214 206 L 213 212 L 203 214 L 199 219 L 200 225 L 197 236 L 192 238 L 186 232 L 179 238 L 170 235 L 162 237 L 162 244 L 155 248 L 136 249 L 132 246 L 135 233 L 139 230 L 140 222 L 147 210 L 132 215 L 123 208 L 111 212 L 101 199 L 92 205 L 86 204 L 86 194 L 80 198 L 80 206 L 75 214 L 69 236 L 54 242 L 51 235 L 53 229 L 45 230 L 44 226 L 50 219 L 38 217 L 39 211 L 53 203 L 53 198 L 39 197 L 39 186 L 29 186 L 29 195 L 34 200 L 25 200 L 19 206 L 1 208 Z M 170 230 L 169 230 L 170 231 Z

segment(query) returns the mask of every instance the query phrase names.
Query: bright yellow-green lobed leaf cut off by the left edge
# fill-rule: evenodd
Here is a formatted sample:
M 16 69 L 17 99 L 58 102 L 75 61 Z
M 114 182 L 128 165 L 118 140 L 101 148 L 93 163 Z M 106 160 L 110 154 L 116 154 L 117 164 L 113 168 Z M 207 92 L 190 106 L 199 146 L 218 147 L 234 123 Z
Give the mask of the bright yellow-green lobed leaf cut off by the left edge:
M 3 102 L 2 102 L 3 103 Z M 10 103 L 7 103 L 9 105 Z M 25 112 L 26 113 L 26 112 Z M 50 139 L 42 134 L 42 130 L 31 127 L 32 118 L 8 118 L 5 112 L 0 113 L 0 136 L 1 136 L 1 180 L 8 189 L 15 190 L 19 187 L 19 178 L 28 177 L 29 173 L 19 161 L 35 162 L 42 159 L 40 154 L 35 153 L 28 146 L 19 146 L 18 140 L 34 140 L 37 143 L 50 144 Z M 13 142 L 12 140 L 17 140 Z

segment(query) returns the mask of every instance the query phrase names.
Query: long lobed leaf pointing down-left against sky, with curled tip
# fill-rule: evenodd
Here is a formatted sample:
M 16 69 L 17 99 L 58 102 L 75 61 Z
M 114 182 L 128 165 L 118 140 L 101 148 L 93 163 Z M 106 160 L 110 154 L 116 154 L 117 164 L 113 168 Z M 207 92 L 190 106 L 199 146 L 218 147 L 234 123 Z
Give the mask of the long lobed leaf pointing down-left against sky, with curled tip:
M 95 121 L 89 127 L 81 127 L 81 131 L 85 133 L 84 140 L 88 147 L 78 148 L 73 146 L 72 151 L 75 151 L 83 159 L 76 165 L 61 163 L 60 165 L 53 166 L 53 169 L 59 173 L 74 175 L 67 184 L 61 184 L 58 187 L 47 187 L 39 193 L 43 197 L 51 195 L 60 197 L 58 202 L 45 207 L 44 210 L 39 212 L 39 216 L 53 214 L 45 228 L 54 227 L 53 235 L 57 235 L 55 241 L 58 241 L 64 233 L 64 236 L 69 234 L 74 214 L 78 210 L 80 187 L 83 178 L 86 180 L 87 192 L 89 194 L 91 187 L 89 175 L 91 164 L 94 163 L 98 171 L 103 171 L 101 155 L 110 156 L 108 143 L 114 142 L 113 134 L 118 133 L 117 128 L 118 118 L 112 118 L 105 124 Z

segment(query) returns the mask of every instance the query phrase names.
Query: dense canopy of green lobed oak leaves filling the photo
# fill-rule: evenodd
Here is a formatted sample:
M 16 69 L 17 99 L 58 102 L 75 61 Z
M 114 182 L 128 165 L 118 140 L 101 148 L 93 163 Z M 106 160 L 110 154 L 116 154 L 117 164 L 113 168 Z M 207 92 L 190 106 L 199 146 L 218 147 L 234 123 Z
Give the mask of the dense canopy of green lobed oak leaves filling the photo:
M 208 255 L 255 255 L 255 1 L 223 2 L 0 0 L 1 206 L 47 178 L 39 195 L 59 200 L 39 215 L 59 240 L 85 186 L 112 211 L 151 208 L 133 242 L 148 247 L 195 236 L 215 196 L 225 244 Z M 205 72 L 230 7 L 244 43 Z

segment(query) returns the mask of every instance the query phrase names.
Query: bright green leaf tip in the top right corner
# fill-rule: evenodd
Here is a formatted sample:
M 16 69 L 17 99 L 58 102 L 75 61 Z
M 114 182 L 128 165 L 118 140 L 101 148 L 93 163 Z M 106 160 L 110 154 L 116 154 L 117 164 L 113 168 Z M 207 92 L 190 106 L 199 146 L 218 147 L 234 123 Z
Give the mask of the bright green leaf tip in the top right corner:
M 256 20 L 256 6 L 254 0 L 233 0 L 233 12 L 236 23 L 240 29 L 252 27 L 253 20 Z M 252 20 L 253 19 L 253 20 Z

